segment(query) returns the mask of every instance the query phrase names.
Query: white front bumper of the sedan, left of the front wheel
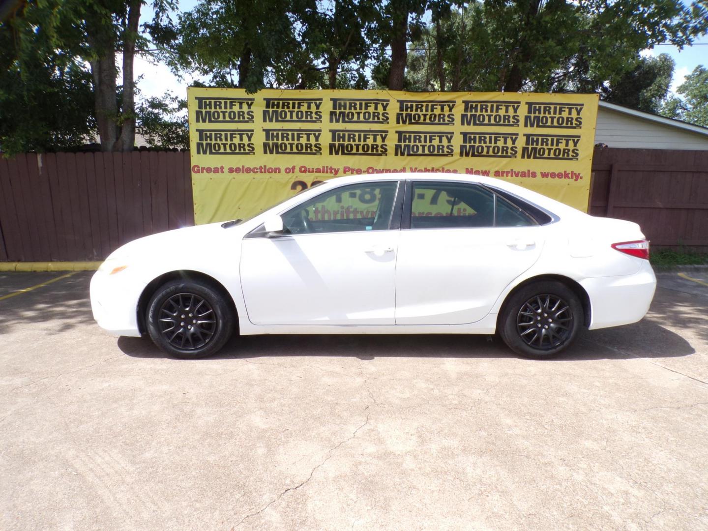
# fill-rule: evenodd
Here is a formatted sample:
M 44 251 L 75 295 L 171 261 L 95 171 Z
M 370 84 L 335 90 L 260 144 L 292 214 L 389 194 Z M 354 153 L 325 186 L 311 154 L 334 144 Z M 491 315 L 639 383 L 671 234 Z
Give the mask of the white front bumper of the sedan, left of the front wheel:
M 112 336 L 139 337 L 137 302 L 146 285 L 118 275 L 99 270 L 91 278 L 93 319 Z

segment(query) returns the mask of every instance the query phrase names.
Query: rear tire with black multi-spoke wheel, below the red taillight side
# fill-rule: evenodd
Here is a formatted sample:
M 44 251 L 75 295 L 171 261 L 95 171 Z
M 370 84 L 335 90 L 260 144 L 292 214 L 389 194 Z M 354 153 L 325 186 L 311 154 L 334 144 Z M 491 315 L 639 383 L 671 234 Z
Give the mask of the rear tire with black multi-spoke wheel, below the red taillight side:
M 566 285 L 552 280 L 522 287 L 505 302 L 499 333 L 524 358 L 553 358 L 571 346 L 583 323 L 583 305 Z

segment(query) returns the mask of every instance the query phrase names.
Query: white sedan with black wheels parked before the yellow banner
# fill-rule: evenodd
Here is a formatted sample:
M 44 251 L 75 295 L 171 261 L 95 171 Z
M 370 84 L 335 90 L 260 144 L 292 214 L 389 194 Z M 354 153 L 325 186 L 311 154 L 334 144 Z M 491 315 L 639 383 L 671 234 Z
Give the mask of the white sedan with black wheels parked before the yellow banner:
M 639 226 L 498 179 L 335 178 L 251 219 L 146 236 L 91 280 L 98 324 L 176 358 L 234 331 L 498 332 L 549 358 L 639 321 L 656 287 Z

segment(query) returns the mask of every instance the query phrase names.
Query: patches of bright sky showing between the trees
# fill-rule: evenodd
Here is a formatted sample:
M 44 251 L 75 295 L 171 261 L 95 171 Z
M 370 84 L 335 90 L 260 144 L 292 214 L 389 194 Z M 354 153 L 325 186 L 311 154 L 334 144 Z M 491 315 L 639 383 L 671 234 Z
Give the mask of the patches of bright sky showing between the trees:
M 197 2 L 198 0 L 181 0 L 179 9 L 180 11 L 190 11 Z M 152 9 L 148 4 L 142 10 L 142 21 L 147 21 L 150 18 L 152 18 Z M 679 50 L 675 46 L 658 45 L 641 53 L 653 57 L 667 53 L 673 58 L 676 66 L 670 91 L 675 93 L 678 86 L 683 83 L 685 76 L 690 74 L 695 67 L 699 64 L 708 67 L 708 35 L 697 39 L 695 45 L 684 47 L 683 50 Z M 120 57 L 118 57 L 118 64 L 120 64 Z M 178 79 L 165 64 L 152 62 L 146 57 L 136 57 L 134 68 L 135 76 L 142 76 L 138 88 L 144 97 L 162 96 L 165 91 L 171 91 L 175 96 L 186 98 L 187 86 L 192 79 L 195 79 L 193 76 Z M 200 78 L 200 80 L 208 81 L 208 78 Z

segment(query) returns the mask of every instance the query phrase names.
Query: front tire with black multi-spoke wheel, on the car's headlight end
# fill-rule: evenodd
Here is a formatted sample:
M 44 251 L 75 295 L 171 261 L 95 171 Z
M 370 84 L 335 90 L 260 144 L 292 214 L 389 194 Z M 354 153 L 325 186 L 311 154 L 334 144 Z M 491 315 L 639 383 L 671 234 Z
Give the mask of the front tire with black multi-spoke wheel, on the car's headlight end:
M 229 341 L 235 316 L 220 290 L 198 280 L 173 280 L 147 306 L 147 332 L 164 353 L 182 360 L 214 355 Z

